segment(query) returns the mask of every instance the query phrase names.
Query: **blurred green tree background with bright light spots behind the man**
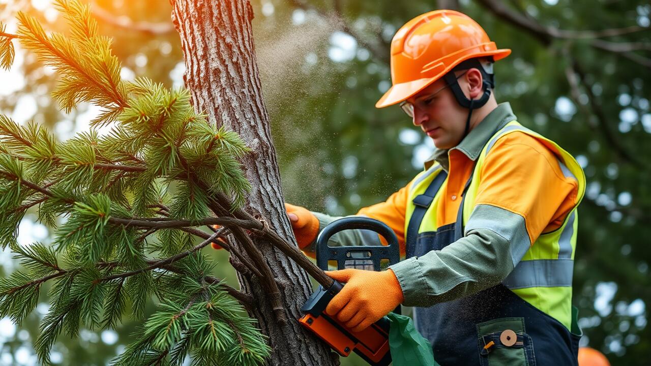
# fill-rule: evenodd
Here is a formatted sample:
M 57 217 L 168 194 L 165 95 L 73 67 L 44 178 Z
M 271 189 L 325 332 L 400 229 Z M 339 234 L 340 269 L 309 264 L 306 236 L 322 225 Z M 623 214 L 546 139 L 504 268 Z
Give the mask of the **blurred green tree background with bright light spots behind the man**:
M 184 64 L 167 2 L 92 1 L 100 33 L 114 38 L 122 77 L 182 83 Z M 255 0 L 255 42 L 272 119 L 286 199 L 328 214 L 354 214 L 404 186 L 421 169 L 432 143 L 398 107 L 375 109 L 391 86 L 389 44 L 406 21 L 435 8 L 473 17 L 500 48 L 498 102 L 519 122 L 557 141 L 585 169 L 579 208 L 574 299 L 589 345 L 613 365 L 641 365 L 651 350 L 651 5 L 630 0 Z M 48 0 L 0 0 L 0 21 L 17 10 L 51 30 L 62 21 Z M 8 29 L 7 31 L 13 31 Z M 16 49 L 0 72 L 0 112 L 35 120 L 67 139 L 98 111 L 62 114 L 49 92 L 56 79 Z M 31 220 L 31 221 L 30 221 Z M 48 242 L 47 228 L 25 216 L 24 242 Z M 215 253 L 219 257 L 223 253 Z M 18 264 L 0 255 L 5 274 Z M 231 283 L 234 274 L 224 273 Z M 42 300 L 46 300 L 42 298 Z M 33 364 L 38 307 L 27 326 L 0 320 L 0 364 Z M 150 309 L 151 310 L 151 309 Z M 136 324 L 133 324 L 135 326 Z M 128 343 L 133 328 L 61 339 L 64 365 L 104 365 Z M 359 364 L 354 360 L 342 363 Z

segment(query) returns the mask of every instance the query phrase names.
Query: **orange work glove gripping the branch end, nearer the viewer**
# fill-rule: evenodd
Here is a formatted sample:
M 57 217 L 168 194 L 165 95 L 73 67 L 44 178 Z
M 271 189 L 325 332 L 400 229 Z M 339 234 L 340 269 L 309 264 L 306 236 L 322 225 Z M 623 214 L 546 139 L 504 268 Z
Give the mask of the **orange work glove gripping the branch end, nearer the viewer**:
M 404 302 L 402 287 L 393 271 L 340 270 L 326 272 L 346 285 L 330 300 L 326 313 L 352 331 L 363 331 Z

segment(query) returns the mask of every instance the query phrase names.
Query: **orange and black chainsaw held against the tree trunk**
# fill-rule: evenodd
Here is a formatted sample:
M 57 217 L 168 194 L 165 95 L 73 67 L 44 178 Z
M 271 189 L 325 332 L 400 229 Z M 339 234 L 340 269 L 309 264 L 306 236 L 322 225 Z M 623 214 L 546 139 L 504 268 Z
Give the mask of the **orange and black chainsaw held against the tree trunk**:
M 374 231 L 383 236 L 388 245 L 347 247 L 327 245 L 331 236 L 351 229 Z M 391 228 L 376 219 L 361 216 L 338 219 L 327 225 L 316 239 L 316 265 L 322 270 L 327 270 L 329 262 L 334 261 L 338 270 L 355 268 L 380 271 L 399 260 L 398 238 Z M 344 285 L 339 281 L 334 281 L 329 289 L 319 286 L 301 308 L 305 315 L 299 319 L 299 322 L 341 356 L 348 357 L 350 352 L 355 352 L 370 365 L 389 365 L 391 363 L 389 318 L 383 317 L 365 330 L 354 332 L 346 328 L 336 317 L 327 315 L 327 304 L 343 287 Z M 400 305 L 394 312 L 400 313 Z

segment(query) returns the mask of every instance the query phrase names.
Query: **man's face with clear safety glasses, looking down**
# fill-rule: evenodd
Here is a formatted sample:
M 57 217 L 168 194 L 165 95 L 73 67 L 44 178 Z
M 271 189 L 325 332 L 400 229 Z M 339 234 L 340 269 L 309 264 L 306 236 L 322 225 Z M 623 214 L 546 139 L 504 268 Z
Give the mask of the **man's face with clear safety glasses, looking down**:
M 464 90 L 464 77 L 458 82 Z M 450 87 L 445 85 L 445 81 L 439 79 L 407 100 L 413 104 L 414 126 L 419 126 L 441 149 L 455 147 L 461 142 L 468 117 L 468 110 L 459 106 Z

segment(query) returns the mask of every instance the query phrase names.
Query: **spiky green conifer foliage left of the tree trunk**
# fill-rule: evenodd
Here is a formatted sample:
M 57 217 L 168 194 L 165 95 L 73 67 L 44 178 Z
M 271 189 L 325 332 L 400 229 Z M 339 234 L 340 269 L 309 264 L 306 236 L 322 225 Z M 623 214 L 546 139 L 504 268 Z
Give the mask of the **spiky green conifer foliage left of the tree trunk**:
M 123 81 L 111 39 L 98 35 L 88 5 L 57 0 L 55 8 L 68 35 L 46 32 L 20 12 L 18 36 L 0 35 L 0 65 L 12 63 L 17 38 L 61 76 L 53 91 L 61 109 L 100 106 L 91 126 L 111 131 L 59 142 L 43 126 L 0 115 L 0 245 L 29 271 L 0 279 L 0 317 L 21 324 L 51 281 L 49 312 L 34 343 L 44 364 L 61 333 L 118 328 L 126 314 L 146 318 L 145 326 L 115 365 L 180 365 L 188 354 L 197 365 L 262 363 L 270 353 L 266 339 L 219 284 L 206 283 L 214 264 L 196 252 L 194 237 L 161 229 L 156 238 L 158 229 L 128 223 L 208 218 L 217 193 L 241 206 L 250 184 L 238 158 L 249 148 L 195 113 L 186 89 Z M 33 207 L 53 230 L 51 246 L 16 243 L 18 223 Z M 157 266 L 158 255 L 180 257 Z M 154 295 L 160 302 L 150 313 Z

